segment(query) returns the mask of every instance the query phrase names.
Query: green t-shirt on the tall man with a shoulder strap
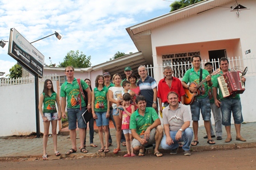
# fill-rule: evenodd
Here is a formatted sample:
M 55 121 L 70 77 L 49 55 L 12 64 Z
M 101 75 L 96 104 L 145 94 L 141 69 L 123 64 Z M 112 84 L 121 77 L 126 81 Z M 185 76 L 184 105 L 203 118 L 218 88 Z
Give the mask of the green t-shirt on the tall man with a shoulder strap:
M 89 86 L 85 81 L 81 80 L 81 86 L 83 90 L 86 90 Z M 61 97 L 67 97 L 67 108 L 78 109 L 80 108 L 80 102 L 82 107 L 85 107 L 85 100 L 83 99 L 77 78 L 74 78 L 72 84 L 67 82 L 67 80 L 61 85 Z

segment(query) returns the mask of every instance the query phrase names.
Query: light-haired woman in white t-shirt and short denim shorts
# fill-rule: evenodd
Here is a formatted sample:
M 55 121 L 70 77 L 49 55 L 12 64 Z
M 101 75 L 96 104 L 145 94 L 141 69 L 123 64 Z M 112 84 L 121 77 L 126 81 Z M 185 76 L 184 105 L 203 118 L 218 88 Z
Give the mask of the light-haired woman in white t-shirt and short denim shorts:
M 115 127 L 117 129 L 117 132 L 115 132 L 115 137 L 117 138 L 117 148 L 114 149 L 114 154 L 117 154 L 120 149 L 120 142 L 121 142 L 121 135 L 122 135 L 122 121 L 119 118 L 119 111 L 117 109 L 117 103 L 122 102 L 121 92 L 123 90 L 123 87 L 121 86 L 122 77 L 120 74 L 114 74 L 113 76 L 113 82 L 115 86 L 109 88 L 109 101 L 112 102 L 113 107 L 113 117 L 115 121 Z

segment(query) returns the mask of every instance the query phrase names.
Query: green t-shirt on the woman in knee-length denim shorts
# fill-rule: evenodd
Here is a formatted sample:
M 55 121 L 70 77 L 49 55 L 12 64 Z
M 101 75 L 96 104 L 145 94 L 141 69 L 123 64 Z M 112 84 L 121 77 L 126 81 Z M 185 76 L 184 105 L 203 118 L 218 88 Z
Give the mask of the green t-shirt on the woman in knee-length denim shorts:
M 97 112 L 105 112 L 107 111 L 107 92 L 109 89 L 107 89 L 106 86 L 103 87 L 101 91 L 99 91 L 97 88 L 94 88 L 94 111 Z

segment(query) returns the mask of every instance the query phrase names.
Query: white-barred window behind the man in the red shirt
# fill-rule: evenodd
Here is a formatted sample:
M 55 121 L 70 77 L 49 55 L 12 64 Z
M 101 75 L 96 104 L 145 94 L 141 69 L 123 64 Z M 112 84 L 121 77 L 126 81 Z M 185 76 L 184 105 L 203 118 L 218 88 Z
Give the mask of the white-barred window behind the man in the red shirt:
M 191 68 L 191 56 L 200 55 L 199 51 L 185 52 L 185 53 L 173 53 L 168 55 L 162 55 L 163 65 L 170 65 L 174 71 L 174 77 L 181 78 L 185 72 Z

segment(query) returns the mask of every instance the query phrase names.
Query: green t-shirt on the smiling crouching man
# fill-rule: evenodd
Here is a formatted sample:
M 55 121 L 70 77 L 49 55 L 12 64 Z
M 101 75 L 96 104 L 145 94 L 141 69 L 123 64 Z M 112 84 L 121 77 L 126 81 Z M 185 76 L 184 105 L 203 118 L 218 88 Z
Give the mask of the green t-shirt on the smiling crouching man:
M 144 117 L 138 113 L 138 109 L 131 114 L 130 129 L 136 129 L 137 134 L 146 131 L 156 119 L 159 119 L 157 111 L 153 107 L 146 107 Z

